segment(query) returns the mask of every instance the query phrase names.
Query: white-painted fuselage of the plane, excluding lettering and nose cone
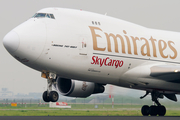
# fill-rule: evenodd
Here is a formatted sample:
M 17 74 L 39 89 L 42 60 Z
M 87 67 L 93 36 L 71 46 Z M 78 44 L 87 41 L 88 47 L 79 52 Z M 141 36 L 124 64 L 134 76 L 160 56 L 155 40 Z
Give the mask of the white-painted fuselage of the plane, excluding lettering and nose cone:
M 102 29 L 102 31 L 97 31 L 96 33 L 101 36 L 97 40 L 98 47 L 100 48 L 107 47 L 104 32 L 123 36 L 125 35 L 123 30 L 126 30 L 128 37 L 137 36 L 150 39 L 150 37 L 153 36 L 153 38 L 158 41 L 162 39 L 166 43 L 171 40 L 175 43 L 175 45 L 172 46 L 177 51 L 180 51 L 179 33 L 149 29 L 130 22 L 86 11 L 46 8 L 38 12 L 54 14 L 55 19 L 31 18 L 12 30 L 18 34 L 20 44 L 15 52 L 9 52 L 13 56 L 19 57 L 20 62 L 30 68 L 40 72 L 45 70 L 56 73 L 63 78 L 81 81 L 113 84 L 127 88 L 131 86 L 134 89 L 142 90 L 160 89 L 162 91 L 180 93 L 178 84 L 150 76 L 150 68 L 153 66 L 159 64 L 179 66 L 179 55 L 173 60 L 169 57 L 164 59 L 160 53 L 157 52 L 157 57 L 152 57 L 153 47 L 149 43 L 151 57 L 142 56 L 140 46 L 144 44 L 143 42 L 137 43 L 138 55 L 134 55 L 132 41 L 130 41 L 132 49 L 131 55 L 127 54 L 127 43 L 125 43 L 126 54 L 122 54 L 121 51 L 115 53 L 113 42 L 111 45 L 112 52 L 108 52 L 107 48 L 103 52 L 95 51 L 93 50 L 92 34 L 89 26 Z M 100 22 L 100 25 L 93 25 L 92 21 Z M 80 49 L 71 48 L 72 46 L 79 48 L 79 39 L 85 40 L 87 44 L 86 49 L 83 49 L 83 47 Z M 53 46 L 53 44 L 63 45 L 63 47 Z M 173 52 L 169 47 L 164 50 L 164 54 L 171 54 L 171 56 L 173 56 Z M 99 67 L 98 65 L 91 64 L 91 62 L 93 62 L 92 56 L 98 56 L 102 59 L 110 57 L 111 59 L 123 60 L 124 65 L 120 68 L 113 66 Z M 88 71 L 89 69 L 100 72 Z M 148 85 L 145 86 L 139 83 L 148 83 Z

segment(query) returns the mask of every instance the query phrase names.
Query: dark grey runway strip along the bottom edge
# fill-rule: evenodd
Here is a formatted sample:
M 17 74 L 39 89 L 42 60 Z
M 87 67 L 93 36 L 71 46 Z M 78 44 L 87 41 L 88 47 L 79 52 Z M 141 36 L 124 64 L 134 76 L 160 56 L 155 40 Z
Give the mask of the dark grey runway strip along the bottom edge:
M 1 116 L 1 120 L 179 120 L 175 117 L 123 117 L 123 116 Z

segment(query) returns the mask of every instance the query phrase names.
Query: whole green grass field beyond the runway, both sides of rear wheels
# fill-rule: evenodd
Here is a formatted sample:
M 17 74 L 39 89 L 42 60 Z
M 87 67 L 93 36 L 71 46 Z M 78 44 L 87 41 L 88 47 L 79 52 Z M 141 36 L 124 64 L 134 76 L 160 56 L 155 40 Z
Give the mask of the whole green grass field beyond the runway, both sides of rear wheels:
M 49 108 L 48 105 L 0 105 L 0 116 L 142 116 L 141 105 L 71 104 L 72 109 Z M 169 108 L 168 108 L 169 109 Z M 175 108 L 177 109 L 177 108 Z M 167 110 L 166 116 L 180 116 L 180 110 Z

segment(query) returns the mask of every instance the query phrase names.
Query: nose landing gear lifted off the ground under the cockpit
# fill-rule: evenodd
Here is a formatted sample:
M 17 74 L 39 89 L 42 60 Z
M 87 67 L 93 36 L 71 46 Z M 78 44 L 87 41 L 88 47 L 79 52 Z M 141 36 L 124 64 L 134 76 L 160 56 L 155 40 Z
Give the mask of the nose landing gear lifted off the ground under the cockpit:
M 45 102 L 57 102 L 59 94 L 56 91 L 52 91 L 52 85 L 56 84 L 56 74 L 53 73 L 42 73 L 43 78 L 47 78 L 47 91 L 43 93 L 43 100 Z

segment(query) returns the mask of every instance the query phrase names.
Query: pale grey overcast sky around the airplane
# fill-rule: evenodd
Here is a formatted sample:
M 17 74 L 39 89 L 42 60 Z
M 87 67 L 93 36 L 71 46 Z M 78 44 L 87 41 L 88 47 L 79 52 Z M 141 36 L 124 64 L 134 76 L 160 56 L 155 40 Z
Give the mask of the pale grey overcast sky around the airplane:
M 10 30 L 42 8 L 107 13 L 145 27 L 180 32 L 179 5 L 180 0 L 0 0 L 0 89 L 5 87 L 14 93 L 25 94 L 46 89 L 46 80 L 41 78 L 41 73 L 16 61 L 2 45 L 3 37 Z M 121 89 L 121 93 L 140 92 Z

